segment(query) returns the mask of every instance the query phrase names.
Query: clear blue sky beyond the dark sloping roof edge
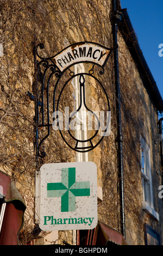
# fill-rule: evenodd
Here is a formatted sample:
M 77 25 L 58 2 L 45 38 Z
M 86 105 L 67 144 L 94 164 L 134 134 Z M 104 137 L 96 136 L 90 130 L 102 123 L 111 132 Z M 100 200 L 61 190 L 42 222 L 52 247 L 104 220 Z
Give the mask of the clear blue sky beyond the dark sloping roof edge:
M 163 99 L 163 0 L 120 0 L 127 8 L 140 48 Z M 163 51 L 162 51 L 163 53 Z

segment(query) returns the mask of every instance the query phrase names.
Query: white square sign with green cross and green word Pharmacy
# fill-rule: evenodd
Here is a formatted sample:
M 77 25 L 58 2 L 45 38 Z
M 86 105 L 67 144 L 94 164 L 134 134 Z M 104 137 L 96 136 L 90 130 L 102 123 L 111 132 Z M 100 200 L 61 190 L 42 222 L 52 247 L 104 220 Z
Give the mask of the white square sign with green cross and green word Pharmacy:
M 93 162 L 43 164 L 36 179 L 42 230 L 93 229 L 97 225 L 97 167 Z

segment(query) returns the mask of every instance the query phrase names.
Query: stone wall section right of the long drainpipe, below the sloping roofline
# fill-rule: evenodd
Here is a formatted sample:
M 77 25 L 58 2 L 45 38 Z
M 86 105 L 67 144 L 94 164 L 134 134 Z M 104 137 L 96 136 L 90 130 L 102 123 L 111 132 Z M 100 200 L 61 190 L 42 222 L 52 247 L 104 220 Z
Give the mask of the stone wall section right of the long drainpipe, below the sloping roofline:
M 127 241 L 131 244 L 141 245 L 144 243 L 143 223 L 151 225 L 158 233 L 162 230 L 162 213 L 160 211 L 162 202 L 158 197 L 158 187 L 161 184 L 161 175 L 158 175 L 160 169 L 157 149 L 158 113 L 151 101 L 151 92 L 148 92 L 142 83 L 140 74 L 136 69 L 136 63 L 130 56 L 120 33 L 118 45 Z M 140 173 L 141 137 L 145 139 L 151 150 L 154 210 L 160 214 L 159 222 L 141 209 L 143 200 Z

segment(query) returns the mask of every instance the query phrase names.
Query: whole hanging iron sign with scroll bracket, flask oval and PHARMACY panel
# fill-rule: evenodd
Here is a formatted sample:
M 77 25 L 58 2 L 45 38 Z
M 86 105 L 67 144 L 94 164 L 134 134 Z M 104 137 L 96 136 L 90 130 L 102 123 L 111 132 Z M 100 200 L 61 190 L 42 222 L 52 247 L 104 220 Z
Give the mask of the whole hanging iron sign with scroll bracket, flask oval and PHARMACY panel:
M 37 157 L 45 157 L 45 139 L 57 129 L 72 150 L 79 153 L 93 150 L 105 136 L 110 135 L 111 130 L 110 103 L 100 77 L 104 74 L 105 64 L 113 49 L 95 42 L 78 42 L 52 57 L 45 57 L 41 56 L 45 53 L 40 54 L 43 48 L 43 44 L 35 47 L 37 77 L 42 74 L 42 80 L 37 81 L 35 97 Z M 80 70 L 79 66 L 82 66 Z M 95 104 L 91 103 L 94 100 L 91 95 L 92 86 L 96 87 L 95 92 L 100 92 L 102 109 L 105 108 L 100 113 L 95 113 Z M 109 88 L 107 84 L 106 86 Z M 79 95 L 76 95 L 75 90 Z M 65 109 L 62 109 L 63 106 Z M 51 126 L 53 130 L 50 129 Z M 86 130 L 86 136 L 78 136 L 78 127 Z M 45 132 L 42 133 L 41 130 Z

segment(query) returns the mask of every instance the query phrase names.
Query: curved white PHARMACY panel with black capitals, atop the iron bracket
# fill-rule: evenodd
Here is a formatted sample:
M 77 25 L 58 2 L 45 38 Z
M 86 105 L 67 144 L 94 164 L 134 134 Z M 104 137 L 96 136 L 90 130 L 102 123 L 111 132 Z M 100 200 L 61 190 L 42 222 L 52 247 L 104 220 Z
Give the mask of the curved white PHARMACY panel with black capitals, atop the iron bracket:
M 53 57 L 60 71 L 78 62 L 91 62 L 103 66 L 111 50 L 93 42 L 80 42 L 68 46 Z

